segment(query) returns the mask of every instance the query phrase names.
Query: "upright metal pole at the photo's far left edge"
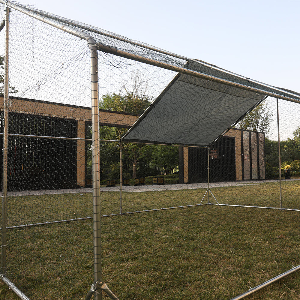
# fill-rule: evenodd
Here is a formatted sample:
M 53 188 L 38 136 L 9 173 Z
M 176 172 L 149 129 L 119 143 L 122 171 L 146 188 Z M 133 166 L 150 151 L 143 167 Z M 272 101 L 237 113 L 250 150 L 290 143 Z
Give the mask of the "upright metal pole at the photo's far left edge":
M 6 226 L 7 226 L 7 148 L 8 148 L 8 44 L 9 8 L 5 15 L 4 58 L 4 117 L 3 117 L 3 169 L 2 169 L 2 230 L 1 230 L 1 275 L 6 274 Z

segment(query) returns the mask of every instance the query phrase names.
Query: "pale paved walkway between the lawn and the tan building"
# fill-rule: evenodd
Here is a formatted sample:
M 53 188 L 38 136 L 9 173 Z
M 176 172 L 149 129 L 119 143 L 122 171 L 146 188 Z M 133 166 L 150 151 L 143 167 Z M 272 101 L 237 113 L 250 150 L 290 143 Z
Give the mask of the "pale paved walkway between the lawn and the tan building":
M 299 181 L 300 179 L 290 179 L 289 181 Z M 286 181 L 286 180 L 282 180 Z M 247 180 L 247 181 L 232 181 L 232 182 L 211 182 L 210 187 L 229 187 L 229 186 L 243 186 L 253 184 L 263 184 L 269 182 L 279 182 L 279 180 Z M 122 187 L 125 192 L 153 192 L 158 190 L 188 190 L 208 188 L 207 183 L 188 183 L 188 184 L 166 184 L 166 185 L 131 185 Z M 61 190 L 26 190 L 26 191 L 11 191 L 7 196 L 29 196 L 29 195 L 51 195 L 51 194 L 67 194 L 67 193 L 89 193 L 92 191 L 91 187 L 76 188 L 76 189 L 61 189 Z M 101 191 L 119 192 L 120 187 L 101 187 Z M 2 196 L 2 193 L 1 195 Z

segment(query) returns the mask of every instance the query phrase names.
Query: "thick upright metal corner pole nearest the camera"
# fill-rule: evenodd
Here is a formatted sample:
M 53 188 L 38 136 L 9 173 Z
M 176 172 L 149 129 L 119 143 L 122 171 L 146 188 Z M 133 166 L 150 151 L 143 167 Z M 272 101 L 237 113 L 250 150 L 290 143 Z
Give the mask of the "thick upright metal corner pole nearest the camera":
M 90 44 L 91 54 L 91 113 L 92 113 L 92 179 L 93 179 L 93 232 L 94 232 L 94 280 L 102 277 L 101 266 L 101 203 L 100 203 L 100 133 L 98 96 L 98 51 Z M 97 293 L 97 292 L 96 292 Z M 102 299 L 102 293 L 95 295 Z

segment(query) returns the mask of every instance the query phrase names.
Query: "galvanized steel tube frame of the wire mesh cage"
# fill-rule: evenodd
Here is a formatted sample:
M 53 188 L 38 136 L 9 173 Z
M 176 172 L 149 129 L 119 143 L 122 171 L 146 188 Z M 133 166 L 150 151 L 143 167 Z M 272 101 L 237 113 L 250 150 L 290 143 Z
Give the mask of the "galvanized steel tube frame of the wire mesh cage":
M 145 58 L 143 56 L 140 55 L 136 55 L 130 52 L 126 52 L 117 48 L 113 48 L 104 44 L 100 44 L 100 43 L 96 43 L 94 41 L 94 39 L 89 36 L 86 33 L 83 33 L 80 30 L 74 29 L 72 26 L 67 26 L 66 24 L 59 22 L 59 21 L 54 21 L 53 19 L 47 17 L 47 16 L 43 16 L 43 15 L 39 15 L 37 13 L 34 13 L 22 6 L 19 6 L 17 4 L 13 4 L 9 1 L 3 1 L 0 0 L 0 3 L 5 4 L 6 7 L 6 22 L 5 22 L 5 30 L 6 30 L 6 53 L 5 53 L 5 90 L 4 90 L 4 147 L 3 147 L 3 196 L 2 196 L 2 247 L 1 247 L 1 278 L 2 280 L 7 283 L 11 289 L 13 289 L 16 294 L 18 294 L 21 298 L 23 299 L 29 299 L 27 298 L 24 294 L 22 294 L 22 292 L 20 292 L 14 285 L 13 283 L 11 283 L 6 277 L 5 277 L 5 273 L 6 273 L 6 216 L 7 216 L 7 212 L 6 212 L 6 207 L 7 207 L 7 139 L 8 139 L 8 131 L 7 131 L 7 121 L 8 121 L 8 41 L 9 41 L 9 7 L 14 8 L 16 10 L 21 11 L 22 13 L 25 13 L 35 19 L 38 19 L 42 22 L 45 22 L 51 26 L 54 26 L 58 29 L 61 29 L 64 32 L 70 33 L 72 35 L 75 35 L 81 39 L 85 39 L 88 43 L 89 49 L 90 49 L 90 57 L 91 57 L 91 101 L 92 101 L 92 160 L 93 160 L 93 171 L 92 171 L 92 178 L 93 178 L 93 224 L 94 224 L 94 280 L 95 282 L 99 282 L 99 280 L 101 280 L 101 276 L 102 276 L 102 269 L 101 269 L 101 203 L 100 203 L 100 161 L 99 161 L 99 99 L 98 99 L 98 50 L 103 51 L 103 52 L 107 52 L 107 53 L 111 53 L 114 55 L 118 55 L 121 57 L 125 57 L 125 58 L 129 58 L 135 61 L 139 61 L 139 62 L 143 62 L 146 64 L 150 64 L 150 65 L 154 65 L 157 67 L 163 67 L 165 69 L 168 70 L 173 70 L 176 72 L 180 72 L 180 73 L 185 73 L 185 74 L 189 74 L 192 76 L 197 76 L 197 77 L 201 77 L 201 78 L 205 78 L 208 80 L 214 80 L 216 82 L 220 82 L 222 84 L 227 84 L 227 85 L 232 85 L 238 88 L 243 88 L 246 90 L 250 90 L 250 91 L 255 91 L 255 92 L 261 92 L 265 95 L 271 96 L 271 97 L 276 97 L 276 98 L 280 98 L 280 99 L 284 99 L 287 101 L 292 101 L 295 103 L 300 103 L 299 96 L 295 95 L 289 91 L 284 91 L 285 94 L 290 95 L 290 97 L 286 97 L 286 96 L 282 96 L 276 93 L 276 91 L 278 91 L 279 93 L 282 91 L 280 88 L 274 88 L 271 87 L 269 85 L 265 85 L 262 84 L 261 82 L 256 82 L 254 80 L 251 80 L 249 78 L 245 78 L 243 76 L 239 76 L 237 74 L 231 73 L 229 71 L 223 70 L 223 69 L 219 69 L 217 67 L 208 65 L 209 67 L 215 68 L 217 70 L 221 70 L 222 72 L 228 72 L 228 74 L 233 74 L 235 76 L 239 76 L 239 78 L 242 78 L 245 80 L 245 83 L 248 82 L 255 82 L 255 83 L 259 83 L 261 86 L 264 87 L 271 87 L 273 89 L 273 91 L 275 92 L 265 92 L 262 91 L 258 88 L 251 88 L 249 86 L 247 86 L 247 84 L 242 85 L 242 84 L 238 84 L 236 82 L 231 82 L 225 79 L 221 79 L 221 78 L 217 78 L 214 76 L 209 76 L 207 74 L 203 74 L 200 72 L 196 72 L 196 71 L 192 71 L 186 68 L 181 68 L 181 67 L 177 67 L 171 64 L 167 64 L 167 63 L 163 63 L 161 61 L 155 61 L 155 60 L 151 60 L 149 58 Z M 1 27 L 4 25 L 4 23 L 2 22 Z M 104 33 L 103 33 L 104 34 Z M 104 34 L 105 35 L 105 34 Z M 114 36 L 113 36 L 114 37 Z M 119 38 L 120 39 L 120 38 Z M 133 43 L 132 41 L 126 40 L 124 39 L 124 41 L 128 41 L 130 43 Z M 147 47 L 143 44 L 138 44 L 139 46 L 142 46 L 144 48 L 148 48 L 148 49 L 152 49 L 156 52 L 161 52 L 176 58 L 180 58 L 180 59 L 186 59 L 182 56 L 178 56 L 178 55 L 174 55 L 173 53 L 170 52 L 165 52 L 159 49 L 155 49 L 152 47 Z M 203 64 L 203 62 L 201 62 Z M 205 63 L 204 63 L 205 64 Z M 297 99 L 298 98 L 298 99 Z M 277 99 L 277 118 L 278 118 L 278 99 Z M 33 136 L 28 136 L 28 137 L 33 137 Z M 42 137 L 41 138 L 57 138 L 57 137 Z M 63 138 L 61 138 L 63 139 Z M 70 138 L 72 139 L 72 138 Z M 75 139 L 75 140 L 90 140 L 90 139 Z M 120 141 L 115 141 L 115 142 L 120 142 Z M 279 127 L 278 127 L 278 143 L 279 142 Z M 280 149 L 280 148 L 279 148 Z M 209 149 L 208 149 L 209 151 Z M 279 150 L 280 151 L 280 150 Z M 280 161 L 279 161 L 280 163 Z M 5 175 L 6 174 L 6 175 Z M 280 176 L 281 179 L 281 176 Z M 209 184 L 209 158 L 208 158 L 208 184 Z M 209 191 L 209 187 L 208 187 L 208 191 Z M 255 207 L 255 208 L 268 208 L 268 209 L 283 209 L 283 210 L 293 210 L 293 211 L 300 211 L 300 210 L 296 210 L 296 209 L 286 209 L 286 208 L 282 208 L 282 202 L 281 202 L 281 188 L 280 188 L 280 208 L 270 208 L 270 207 L 257 207 L 257 206 L 246 206 L 246 205 L 223 205 L 223 204 L 213 204 L 209 202 L 209 192 L 208 192 L 208 203 L 210 205 L 220 205 L 220 206 L 237 206 L 237 207 Z M 185 206 L 180 206 L 180 207 L 190 207 L 190 206 L 198 206 L 198 205 L 202 205 L 202 204 L 197 204 L 197 205 L 185 205 Z M 171 207 L 173 208 L 173 207 Z M 164 209 L 171 209 L 171 208 L 161 208 L 161 209 L 153 209 L 153 210 L 147 210 L 147 211 L 156 211 L 156 210 L 164 210 Z M 137 213 L 137 212 L 141 212 L 141 211 L 136 211 L 136 212 L 130 212 L 130 213 L 125 213 L 125 214 L 131 214 L 131 213 Z M 120 214 L 124 214 L 122 212 L 122 146 L 120 143 Z M 82 219 L 86 219 L 86 218 L 82 218 Z M 76 219 L 78 220 L 78 219 Z M 49 223 L 49 222 L 48 222 Z M 50 222 L 52 223 L 52 222 Z M 32 224 L 35 225 L 35 224 Z M 251 293 L 254 292 L 254 290 L 259 290 L 263 287 L 265 287 L 268 284 L 271 284 L 295 271 L 297 271 L 298 269 L 300 269 L 300 266 L 293 268 L 277 277 L 274 277 L 272 280 L 267 281 L 266 283 L 263 283 L 260 286 L 257 286 L 254 289 L 251 289 L 250 291 L 232 298 L 232 300 L 237 300 L 237 299 L 241 299 L 246 297 L 247 295 L 250 295 Z M 104 290 L 104 289 L 103 289 Z M 95 299 L 100 300 L 101 297 L 101 293 L 96 293 L 97 295 L 95 295 Z

